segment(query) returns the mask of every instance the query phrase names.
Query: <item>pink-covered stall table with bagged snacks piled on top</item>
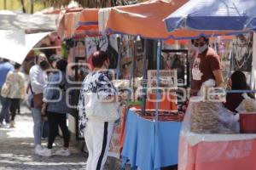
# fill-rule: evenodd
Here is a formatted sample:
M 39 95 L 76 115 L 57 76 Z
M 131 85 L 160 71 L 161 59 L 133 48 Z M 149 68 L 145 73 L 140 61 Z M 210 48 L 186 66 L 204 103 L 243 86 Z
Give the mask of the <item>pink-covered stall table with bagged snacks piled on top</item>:
M 207 109 L 211 108 L 210 105 L 218 105 L 218 108 L 210 111 Z M 189 103 L 180 132 L 178 169 L 255 168 L 256 134 L 239 133 L 237 115 L 233 116 L 221 105 L 198 101 Z M 201 115 L 202 112 L 208 115 L 207 118 Z M 217 116 L 217 124 L 212 119 L 214 115 Z M 214 127 L 211 127 L 212 123 Z

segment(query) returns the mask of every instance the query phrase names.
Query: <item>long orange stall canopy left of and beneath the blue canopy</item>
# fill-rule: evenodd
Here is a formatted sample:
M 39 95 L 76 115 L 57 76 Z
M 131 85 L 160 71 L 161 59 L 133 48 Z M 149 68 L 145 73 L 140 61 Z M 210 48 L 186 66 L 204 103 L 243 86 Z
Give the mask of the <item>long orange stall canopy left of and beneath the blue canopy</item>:
M 61 15 L 58 31 L 62 39 L 98 36 L 101 33 L 121 33 L 148 39 L 190 39 L 201 35 L 211 37 L 229 34 L 229 31 L 166 31 L 163 21 L 187 0 L 153 0 L 135 5 L 113 8 L 84 8 Z

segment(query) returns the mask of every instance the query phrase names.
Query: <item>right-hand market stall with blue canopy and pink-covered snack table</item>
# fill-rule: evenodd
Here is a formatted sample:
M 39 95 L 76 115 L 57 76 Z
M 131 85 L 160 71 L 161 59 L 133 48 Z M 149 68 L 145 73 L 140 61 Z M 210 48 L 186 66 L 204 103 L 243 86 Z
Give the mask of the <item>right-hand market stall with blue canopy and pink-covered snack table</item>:
M 253 8 L 255 7 L 256 2 L 253 0 L 191 0 L 166 18 L 166 27 L 168 31 L 177 29 L 228 30 L 231 31 L 230 34 L 253 31 L 255 28 Z M 230 65 L 230 71 L 231 66 L 233 65 Z M 239 69 L 243 71 L 243 68 Z M 254 77 L 253 71 L 254 69 L 251 70 L 251 77 Z M 227 93 L 247 92 L 255 92 L 255 90 L 227 91 Z M 249 111 L 240 113 L 242 112 Z M 207 115 L 204 116 L 206 113 Z M 200 100 L 195 103 L 190 99 L 180 133 L 178 169 L 255 169 L 256 164 L 253 161 L 256 151 L 255 130 L 243 130 L 243 126 L 253 126 L 250 122 L 244 125 L 243 116 L 248 115 L 238 116 L 236 114 L 234 116 L 233 113 L 228 113 L 221 103 Z M 250 113 L 249 116 L 253 123 L 255 115 Z M 240 126 L 237 122 L 238 118 L 240 118 Z

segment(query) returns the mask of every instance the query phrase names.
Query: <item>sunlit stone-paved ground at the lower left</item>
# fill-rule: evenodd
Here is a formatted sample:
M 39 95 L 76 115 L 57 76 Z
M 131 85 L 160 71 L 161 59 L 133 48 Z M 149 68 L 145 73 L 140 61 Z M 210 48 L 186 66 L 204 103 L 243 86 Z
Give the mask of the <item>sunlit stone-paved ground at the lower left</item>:
M 82 170 L 85 169 L 87 155 L 70 147 L 71 156 L 42 157 L 34 154 L 32 116 L 25 107 L 16 116 L 15 128 L 0 128 L 0 170 Z M 47 141 L 43 140 L 43 145 Z M 53 150 L 60 149 L 62 139 L 57 138 Z M 113 160 L 108 160 L 106 170 L 119 169 Z

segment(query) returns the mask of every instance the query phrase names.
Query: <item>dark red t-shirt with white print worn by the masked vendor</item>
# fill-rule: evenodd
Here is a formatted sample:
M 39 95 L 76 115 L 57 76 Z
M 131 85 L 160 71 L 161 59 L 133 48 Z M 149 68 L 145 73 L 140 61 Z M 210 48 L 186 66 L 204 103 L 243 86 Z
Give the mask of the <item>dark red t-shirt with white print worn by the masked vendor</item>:
M 219 56 L 212 48 L 207 48 L 205 52 L 198 54 L 192 66 L 191 94 L 196 95 L 201 88 L 201 84 L 208 79 L 215 80 L 212 71 L 220 69 Z

